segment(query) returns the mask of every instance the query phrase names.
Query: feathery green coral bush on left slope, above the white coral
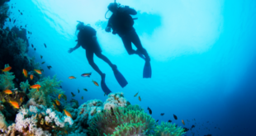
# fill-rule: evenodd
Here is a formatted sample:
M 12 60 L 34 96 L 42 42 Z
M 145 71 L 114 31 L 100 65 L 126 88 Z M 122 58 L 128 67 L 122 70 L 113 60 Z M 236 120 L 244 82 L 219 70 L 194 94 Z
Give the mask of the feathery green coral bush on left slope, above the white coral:
M 39 84 L 40 91 L 36 89 L 31 89 L 28 96 L 34 98 L 36 103 L 50 107 L 52 105 L 50 95 L 63 94 L 64 91 L 59 89 L 61 81 L 57 80 L 57 77 L 54 76 L 52 79 L 50 77 L 44 77 Z

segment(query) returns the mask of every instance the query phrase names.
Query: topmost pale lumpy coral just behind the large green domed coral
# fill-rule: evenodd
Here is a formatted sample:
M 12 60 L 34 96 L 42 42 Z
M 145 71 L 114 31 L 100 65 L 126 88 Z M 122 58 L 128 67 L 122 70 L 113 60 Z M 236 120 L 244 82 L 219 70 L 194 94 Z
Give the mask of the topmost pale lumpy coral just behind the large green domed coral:
M 104 102 L 104 110 L 110 110 L 111 108 L 116 107 L 125 107 L 129 106 L 130 102 L 126 101 L 123 92 L 110 93 L 107 96 L 106 102 Z

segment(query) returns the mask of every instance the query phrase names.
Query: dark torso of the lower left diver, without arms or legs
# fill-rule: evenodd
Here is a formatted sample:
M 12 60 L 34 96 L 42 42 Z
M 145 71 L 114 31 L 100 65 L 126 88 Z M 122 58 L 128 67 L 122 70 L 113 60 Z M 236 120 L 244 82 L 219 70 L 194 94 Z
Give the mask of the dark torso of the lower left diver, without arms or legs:
M 82 45 L 83 49 L 93 53 L 101 53 L 102 49 L 97 42 L 96 30 L 91 26 L 83 26 L 78 33 L 78 45 Z

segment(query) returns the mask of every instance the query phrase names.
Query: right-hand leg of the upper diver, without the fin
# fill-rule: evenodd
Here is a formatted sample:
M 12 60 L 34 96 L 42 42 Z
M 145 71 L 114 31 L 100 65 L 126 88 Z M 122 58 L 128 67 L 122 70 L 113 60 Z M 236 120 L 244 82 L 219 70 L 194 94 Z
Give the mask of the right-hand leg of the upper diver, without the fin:
M 146 61 L 150 61 L 150 57 L 149 57 L 149 54 L 148 52 L 146 51 L 146 49 L 144 49 L 141 45 L 141 42 L 140 42 L 140 38 L 139 36 L 137 35 L 136 31 L 135 30 L 132 30 L 130 31 L 130 40 L 131 42 L 136 46 L 137 50 L 136 52 L 140 52 L 141 54 L 144 54 L 145 56 L 145 60 Z M 136 54 L 139 54 L 139 53 L 136 53 Z

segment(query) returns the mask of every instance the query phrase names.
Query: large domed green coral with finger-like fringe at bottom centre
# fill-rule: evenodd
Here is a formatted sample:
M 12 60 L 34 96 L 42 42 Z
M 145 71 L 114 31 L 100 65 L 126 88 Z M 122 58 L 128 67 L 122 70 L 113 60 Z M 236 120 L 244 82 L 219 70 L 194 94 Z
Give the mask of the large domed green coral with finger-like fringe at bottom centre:
M 150 134 L 154 124 L 154 119 L 144 110 L 138 106 L 128 106 L 103 110 L 90 120 L 88 130 L 92 135 Z

